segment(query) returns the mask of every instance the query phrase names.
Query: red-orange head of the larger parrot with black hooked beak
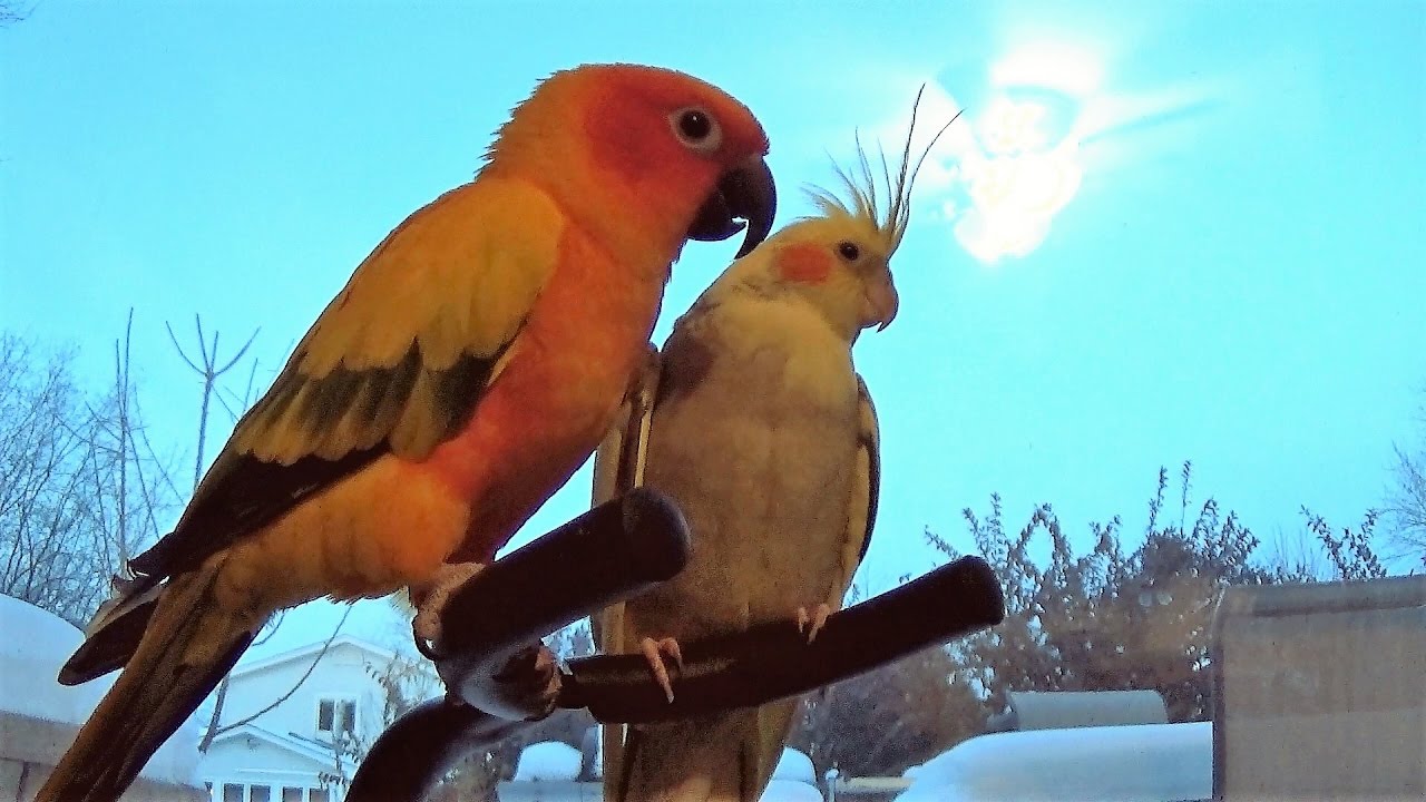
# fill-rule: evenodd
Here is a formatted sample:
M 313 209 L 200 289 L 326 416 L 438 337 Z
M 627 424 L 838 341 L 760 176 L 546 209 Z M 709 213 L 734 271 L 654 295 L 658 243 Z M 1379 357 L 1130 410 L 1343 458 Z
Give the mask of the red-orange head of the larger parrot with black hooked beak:
M 637 64 L 555 73 L 518 106 L 485 173 L 535 177 L 580 225 L 619 248 L 677 255 L 686 240 L 771 231 L 777 193 L 767 134 L 723 90 Z

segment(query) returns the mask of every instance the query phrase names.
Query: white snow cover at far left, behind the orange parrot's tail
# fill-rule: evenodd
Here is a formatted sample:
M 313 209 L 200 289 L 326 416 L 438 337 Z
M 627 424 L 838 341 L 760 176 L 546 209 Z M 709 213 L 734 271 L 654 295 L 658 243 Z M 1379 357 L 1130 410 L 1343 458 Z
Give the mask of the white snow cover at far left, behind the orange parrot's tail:
M 73 624 L 33 604 L 0 595 L 0 631 L 6 634 L 0 638 L 0 676 L 4 676 L 4 682 L 0 682 L 0 716 L 50 721 L 78 729 L 118 676 L 110 674 L 73 688 L 60 685 L 56 679 L 60 666 L 70 659 L 84 635 Z M 24 732 L 23 722 L 14 722 L 10 731 Z M 198 722 L 190 716 L 148 761 L 140 776 L 193 785 L 198 763 Z M 53 755 L 36 755 L 36 749 L 29 749 L 27 759 L 44 758 L 53 765 L 60 758 L 58 749 L 67 746 L 68 743 L 56 745 Z M 11 745 L 7 745 L 0 749 L 0 756 L 10 752 Z

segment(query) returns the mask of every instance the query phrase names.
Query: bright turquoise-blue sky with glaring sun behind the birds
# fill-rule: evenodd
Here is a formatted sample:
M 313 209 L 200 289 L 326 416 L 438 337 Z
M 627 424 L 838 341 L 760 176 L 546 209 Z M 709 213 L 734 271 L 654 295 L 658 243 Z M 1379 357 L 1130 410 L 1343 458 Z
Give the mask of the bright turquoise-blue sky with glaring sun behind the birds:
M 181 455 L 198 387 L 164 321 L 261 327 L 265 382 L 535 81 L 609 60 L 747 103 L 780 223 L 856 130 L 896 147 L 923 83 L 927 123 L 965 108 L 894 261 L 901 315 L 857 347 L 886 464 L 873 587 L 934 564 L 925 527 L 971 548 L 960 509 L 992 491 L 1015 525 L 1051 501 L 1075 537 L 1132 531 L 1184 460 L 1266 541 L 1301 504 L 1355 524 L 1419 435 L 1419 0 L 46 0 L 0 30 L 0 325 L 77 345 L 101 382 L 134 307 L 143 404 Z M 734 248 L 684 251 L 657 338 Z

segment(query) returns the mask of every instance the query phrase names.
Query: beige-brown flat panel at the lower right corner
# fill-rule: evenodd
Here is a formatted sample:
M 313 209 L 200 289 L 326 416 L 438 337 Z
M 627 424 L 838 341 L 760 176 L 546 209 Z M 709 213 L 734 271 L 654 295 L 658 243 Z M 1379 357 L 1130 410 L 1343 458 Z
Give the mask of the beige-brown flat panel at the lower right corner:
M 1426 799 L 1426 577 L 1233 588 L 1216 628 L 1222 799 Z

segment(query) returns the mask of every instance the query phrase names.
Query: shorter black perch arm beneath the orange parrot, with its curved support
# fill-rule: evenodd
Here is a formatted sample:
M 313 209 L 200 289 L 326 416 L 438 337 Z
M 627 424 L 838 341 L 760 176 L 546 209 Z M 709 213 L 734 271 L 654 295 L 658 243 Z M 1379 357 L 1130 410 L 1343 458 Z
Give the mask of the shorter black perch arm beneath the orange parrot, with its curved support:
M 687 561 L 683 514 L 640 488 L 492 562 L 441 611 L 435 662 L 446 698 L 416 705 L 376 738 L 348 802 L 422 799 L 462 756 L 519 732 L 529 721 L 501 698 L 493 675 L 520 649 L 674 577 Z

